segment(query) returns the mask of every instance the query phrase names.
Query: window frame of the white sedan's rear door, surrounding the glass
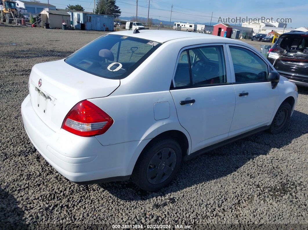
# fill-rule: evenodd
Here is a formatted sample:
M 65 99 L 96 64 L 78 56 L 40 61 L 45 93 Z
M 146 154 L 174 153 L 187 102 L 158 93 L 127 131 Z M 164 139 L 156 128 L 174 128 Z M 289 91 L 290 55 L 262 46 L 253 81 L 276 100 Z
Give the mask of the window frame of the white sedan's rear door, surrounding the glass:
M 175 86 L 175 81 L 174 81 L 174 76 L 176 73 L 176 68 L 177 65 L 179 63 L 180 60 L 180 55 L 183 51 L 186 50 L 187 53 L 187 59 L 188 59 L 188 65 L 189 65 L 189 79 L 190 81 L 192 81 L 191 78 L 191 66 L 190 66 L 190 58 L 189 58 L 189 49 L 193 49 L 193 48 L 201 48 L 201 47 L 205 47 L 205 46 L 222 46 L 222 52 L 224 54 L 224 60 L 225 60 L 225 74 L 226 74 L 226 79 L 227 81 L 225 83 L 217 83 L 217 84 L 205 84 L 205 85 L 192 85 L 192 86 L 184 86 L 184 87 L 174 87 L 174 88 L 170 88 L 170 90 L 176 90 L 176 89 L 186 89 L 186 88 L 200 88 L 200 87 L 209 87 L 209 86 L 217 86 L 217 85 L 229 85 L 232 84 L 232 79 L 231 79 L 231 67 L 230 67 L 230 60 L 228 58 L 228 53 L 227 53 L 227 46 L 225 43 L 206 43 L 206 44 L 199 44 L 199 45 L 190 45 L 190 46 L 185 46 L 182 49 L 180 49 L 177 59 L 176 59 L 176 65 L 174 67 L 173 70 L 173 76 L 172 76 L 172 84 L 173 86 Z M 232 65 L 233 66 L 233 65 Z M 233 70 L 233 74 L 234 74 L 234 70 Z

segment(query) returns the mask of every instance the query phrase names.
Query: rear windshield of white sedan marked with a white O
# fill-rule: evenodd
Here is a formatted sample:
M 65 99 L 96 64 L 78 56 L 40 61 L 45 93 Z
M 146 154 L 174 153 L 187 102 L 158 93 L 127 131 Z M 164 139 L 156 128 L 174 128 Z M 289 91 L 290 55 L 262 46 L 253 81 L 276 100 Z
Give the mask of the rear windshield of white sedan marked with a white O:
M 67 57 L 65 62 L 99 77 L 123 79 L 160 45 L 155 41 L 106 34 Z

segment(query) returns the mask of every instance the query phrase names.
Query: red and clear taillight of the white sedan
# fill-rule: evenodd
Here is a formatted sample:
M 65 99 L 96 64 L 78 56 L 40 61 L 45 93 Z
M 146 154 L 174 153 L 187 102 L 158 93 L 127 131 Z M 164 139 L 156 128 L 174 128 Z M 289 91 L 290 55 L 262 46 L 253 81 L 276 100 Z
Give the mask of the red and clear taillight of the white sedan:
M 105 133 L 113 119 L 95 104 L 83 100 L 66 115 L 62 128 L 73 134 L 91 137 Z

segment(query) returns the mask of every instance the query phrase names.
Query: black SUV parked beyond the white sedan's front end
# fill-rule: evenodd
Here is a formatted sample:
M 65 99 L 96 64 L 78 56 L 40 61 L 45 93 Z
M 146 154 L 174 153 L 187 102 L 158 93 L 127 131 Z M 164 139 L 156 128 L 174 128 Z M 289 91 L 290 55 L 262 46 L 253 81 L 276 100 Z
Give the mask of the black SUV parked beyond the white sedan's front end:
M 308 87 L 308 32 L 282 34 L 267 59 L 281 76 Z

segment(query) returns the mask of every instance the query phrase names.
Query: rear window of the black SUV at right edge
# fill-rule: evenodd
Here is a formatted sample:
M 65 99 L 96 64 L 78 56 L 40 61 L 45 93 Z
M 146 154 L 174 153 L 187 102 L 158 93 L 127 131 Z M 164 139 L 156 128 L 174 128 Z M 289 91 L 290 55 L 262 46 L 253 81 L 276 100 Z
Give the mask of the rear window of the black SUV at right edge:
M 286 35 L 279 37 L 279 40 L 276 43 L 277 46 L 280 46 L 282 49 L 285 49 L 287 52 L 291 50 L 295 51 L 308 51 L 308 36 L 307 35 Z

